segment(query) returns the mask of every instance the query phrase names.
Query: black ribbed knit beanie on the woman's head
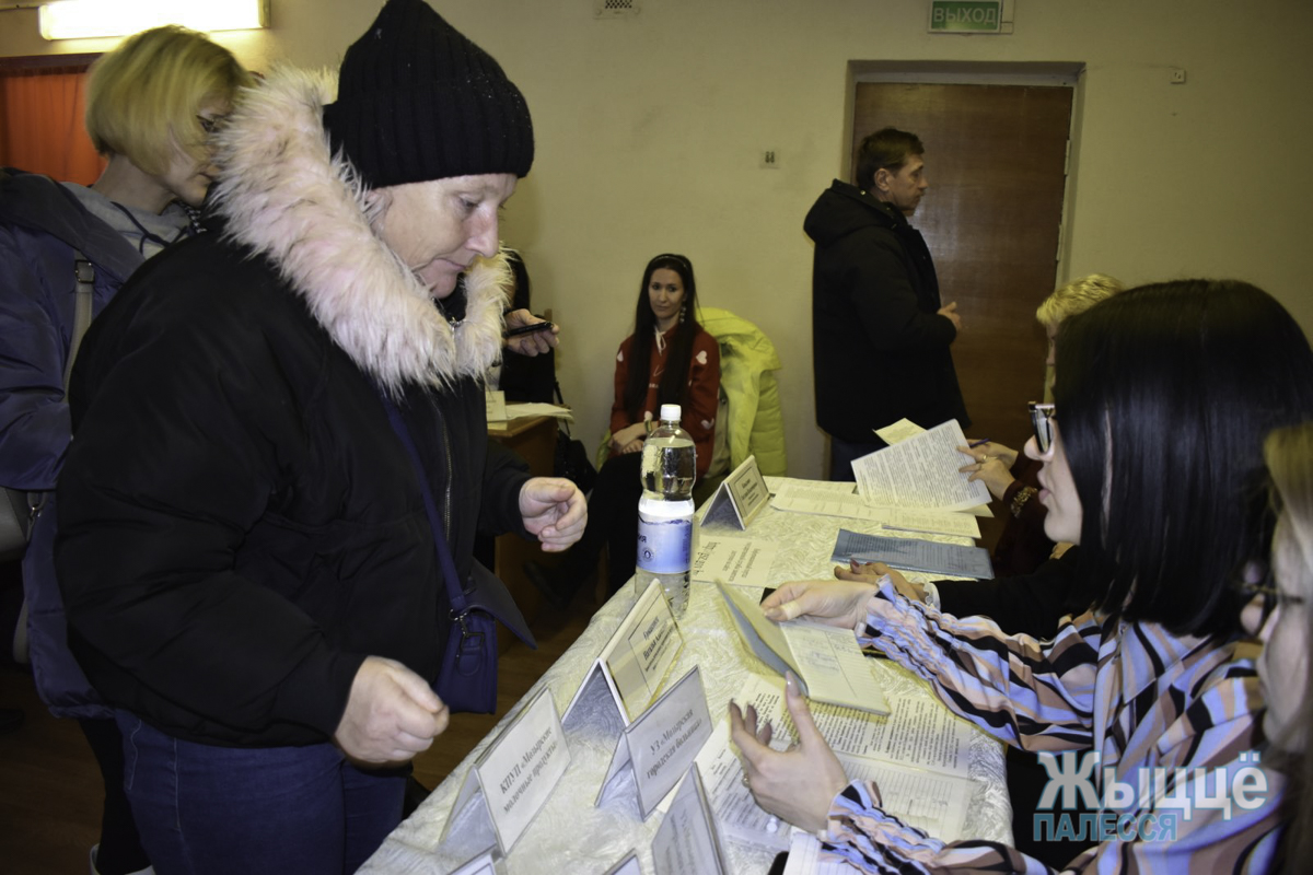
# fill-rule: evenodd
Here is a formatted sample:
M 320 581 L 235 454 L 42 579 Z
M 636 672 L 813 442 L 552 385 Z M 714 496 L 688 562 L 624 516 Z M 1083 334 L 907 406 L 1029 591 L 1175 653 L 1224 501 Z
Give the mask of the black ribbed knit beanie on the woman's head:
M 502 67 L 424 0 L 387 0 L 341 62 L 324 129 L 370 188 L 533 164 L 529 106 Z

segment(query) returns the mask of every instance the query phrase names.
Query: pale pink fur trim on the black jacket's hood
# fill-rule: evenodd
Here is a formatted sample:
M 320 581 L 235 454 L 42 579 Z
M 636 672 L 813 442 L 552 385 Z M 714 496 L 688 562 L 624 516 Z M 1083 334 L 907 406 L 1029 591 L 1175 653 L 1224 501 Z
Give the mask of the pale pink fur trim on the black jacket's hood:
M 215 138 L 214 203 L 226 234 L 270 258 L 334 341 L 391 392 L 482 378 L 502 349 L 506 260 L 475 262 L 465 319 L 448 323 L 374 234 L 351 165 L 328 151 L 323 106 L 336 93 L 335 72 L 284 68 L 243 94 Z

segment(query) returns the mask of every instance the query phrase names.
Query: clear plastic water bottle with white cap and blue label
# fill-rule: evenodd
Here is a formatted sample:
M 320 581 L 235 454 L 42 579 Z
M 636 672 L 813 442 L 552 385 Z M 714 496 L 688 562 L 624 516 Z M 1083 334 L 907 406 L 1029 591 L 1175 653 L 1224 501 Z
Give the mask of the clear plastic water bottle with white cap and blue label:
M 671 610 L 688 606 L 693 559 L 693 480 L 697 450 L 679 428 L 679 404 L 660 405 L 660 425 L 643 442 L 643 496 L 638 500 L 638 592 L 660 581 Z

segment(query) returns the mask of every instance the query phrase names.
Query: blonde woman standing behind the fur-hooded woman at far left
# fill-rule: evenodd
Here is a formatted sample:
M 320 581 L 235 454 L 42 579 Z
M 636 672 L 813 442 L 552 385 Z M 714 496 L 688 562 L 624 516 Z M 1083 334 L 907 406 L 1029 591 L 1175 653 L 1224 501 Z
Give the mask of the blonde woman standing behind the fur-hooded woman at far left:
M 123 796 L 113 711 L 68 653 L 55 585 L 50 491 L 71 433 L 64 386 L 77 352 L 74 264 L 89 289 L 89 319 L 146 258 L 197 232 L 215 173 L 209 135 L 251 81 L 202 34 L 142 31 L 91 68 L 87 132 L 108 159 L 96 182 L 0 172 L 0 484 L 41 508 L 22 560 L 33 677 L 55 715 L 79 719 L 100 763 L 105 808 L 91 866 L 102 875 L 143 871 L 148 861 Z

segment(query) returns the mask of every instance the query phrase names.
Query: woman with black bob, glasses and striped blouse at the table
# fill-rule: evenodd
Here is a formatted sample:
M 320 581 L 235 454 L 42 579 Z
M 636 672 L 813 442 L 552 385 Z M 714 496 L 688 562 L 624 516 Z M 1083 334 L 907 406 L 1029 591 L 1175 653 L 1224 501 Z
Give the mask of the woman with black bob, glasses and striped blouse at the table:
M 1128 291 L 1065 323 L 1058 345 L 1054 405 L 1025 451 L 1044 462 L 1045 531 L 1081 544 L 1083 573 L 1102 581 L 1094 610 L 1044 641 L 941 614 L 888 581 L 785 584 L 763 610 L 855 628 L 1002 741 L 1098 753 L 1094 786 L 1121 836 L 1065 868 L 1264 871 L 1279 838 L 1276 783 L 1250 807 L 1195 807 L 1188 819 L 1171 803 L 1216 796 L 1209 775 L 1238 774 L 1262 744 L 1234 580 L 1264 550 L 1263 436 L 1313 417 L 1313 352 L 1275 299 L 1215 281 Z M 771 728 L 730 706 L 767 811 L 867 871 L 1045 870 L 1014 847 L 944 844 L 886 813 L 874 783 L 844 777 L 796 685 L 785 698 L 801 739 L 789 752 L 769 749 Z

